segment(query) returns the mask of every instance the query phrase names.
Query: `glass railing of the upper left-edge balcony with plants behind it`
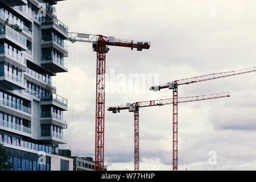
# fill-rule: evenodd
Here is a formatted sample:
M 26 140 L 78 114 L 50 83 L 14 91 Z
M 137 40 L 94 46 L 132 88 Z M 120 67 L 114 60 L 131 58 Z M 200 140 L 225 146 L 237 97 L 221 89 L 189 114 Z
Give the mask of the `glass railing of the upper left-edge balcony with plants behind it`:
M 0 35 L 8 35 L 16 42 L 22 44 L 23 46 L 27 46 L 27 39 L 25 36 L 21 35 L 19 32 L 14 30 L 13 28 L 6 26 L 5 24 L 0 24 Z

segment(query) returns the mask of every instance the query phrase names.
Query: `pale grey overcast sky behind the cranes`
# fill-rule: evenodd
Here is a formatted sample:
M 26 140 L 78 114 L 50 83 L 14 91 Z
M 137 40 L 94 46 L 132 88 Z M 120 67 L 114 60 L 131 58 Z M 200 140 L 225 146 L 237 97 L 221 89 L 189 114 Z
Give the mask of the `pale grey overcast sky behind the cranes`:
M 171 90 L 157 95 L 141 89 L 145 82 L 135 86 L 127 81 L 134 73 L 147 76 L 148 88 L 158 81 L 255 66 L 252 0 L 68 0 L 56 7 L 70 32 L 151 42 L 142 52 L 110 47 L 106 75 L 111 77 L 112 71 L 115 76 L 107 82 L 112 92 L 106 93 L 106 107 L 172 97 Z M 94 158 L 96 53 L 90 43 L 67 44 L 69 72 L 54 78 L 57 94 L 68 98 L 65 119 L 72 122 L 65 131 L 68 144 L 61 148 Z M 231 95 L 179 105 L 179 170 L 256 169 L 255 81 L 256 73 L 248 73 L 179 87 L 180 97 L 227 91 Z M 137 90 L 125 92 L 134 87 Z M 105 164 L 109 170 L 133 170 L 133 113 L 105 113 Z M 171 170 L 172 106 L 142 108 L 139 118 L 140 169 Z M 217 156 L 216 164 L 209 163 L 210 151 Z

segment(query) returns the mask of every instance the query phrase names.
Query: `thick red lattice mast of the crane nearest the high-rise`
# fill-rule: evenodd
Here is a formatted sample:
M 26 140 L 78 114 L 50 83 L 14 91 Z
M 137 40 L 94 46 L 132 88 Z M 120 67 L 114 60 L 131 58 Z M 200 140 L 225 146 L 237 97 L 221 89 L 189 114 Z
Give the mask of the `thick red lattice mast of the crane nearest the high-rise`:
M 104 170 L 106 45 L 97 43 L 95 171 Z

